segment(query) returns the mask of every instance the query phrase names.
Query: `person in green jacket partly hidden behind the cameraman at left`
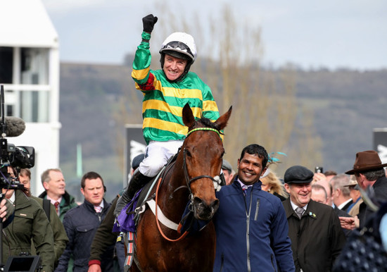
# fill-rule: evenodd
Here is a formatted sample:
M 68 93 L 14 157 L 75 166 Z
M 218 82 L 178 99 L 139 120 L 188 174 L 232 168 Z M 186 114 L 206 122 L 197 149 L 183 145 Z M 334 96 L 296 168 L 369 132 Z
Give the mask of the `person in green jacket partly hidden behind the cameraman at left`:
M 51 228 L 53 230 L 53 247 L 55 251 L 55 267 L 58 265 L 59 257 L 62 255 L 65 247 L 68 243 L 68 237 L 65 232 L 65 228 L 59 219 L 58 214 L 56 214 L 55 206 L 51 204 L 48 199 L 41 199 L 39 197 L 34 197 L 31 195 L 31 171 L 27 168 L 20 169 L 19 173 L 19 181 L 24 185 L 26 194 L 28 197 L 34 199 L 40 206 L 44 209 L 47 218 L 49 219 Z M 46 206 L 44 206 L 44 202 L 47 202 Z M 32 254 L 34 252 L 34 245 L 31 247 Z

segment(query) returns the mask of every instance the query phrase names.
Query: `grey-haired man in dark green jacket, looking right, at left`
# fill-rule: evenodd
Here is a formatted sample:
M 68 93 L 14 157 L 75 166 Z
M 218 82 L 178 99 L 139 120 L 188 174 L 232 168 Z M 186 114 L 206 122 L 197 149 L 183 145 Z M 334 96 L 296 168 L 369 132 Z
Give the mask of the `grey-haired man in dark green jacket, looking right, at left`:
M 78 205 L 75 203 L 75 198 L 65 190 L 66 183 L 61 169 L 50 168 L 44 171 L 42 184 L 45 191 L 39 197 L 49 199 L 51 204 L 55 206 L 59 218 L 63 221 L 65 213 Z

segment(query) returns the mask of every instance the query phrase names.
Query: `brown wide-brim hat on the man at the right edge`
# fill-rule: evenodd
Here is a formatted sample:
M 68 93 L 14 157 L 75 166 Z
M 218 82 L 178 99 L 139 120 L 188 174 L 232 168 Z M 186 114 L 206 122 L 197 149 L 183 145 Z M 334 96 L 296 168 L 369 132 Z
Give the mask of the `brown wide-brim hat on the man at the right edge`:
M 353 169 L 345 173 L 352 175 L 354 173 L 375 170 L 385 166 L 387 166 L 387 163 L 381 164 L 381 159 L 379 158 L 378 152 L 374 150 L 367 150 L 363 152 L 357 152 Z

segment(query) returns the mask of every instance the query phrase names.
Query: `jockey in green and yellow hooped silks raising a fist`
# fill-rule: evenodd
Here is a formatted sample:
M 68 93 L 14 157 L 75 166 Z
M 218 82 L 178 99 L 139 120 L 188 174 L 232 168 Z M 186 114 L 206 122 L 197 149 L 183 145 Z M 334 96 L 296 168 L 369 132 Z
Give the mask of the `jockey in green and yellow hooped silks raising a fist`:
M 191 35 L 174 32 L 167 37 L 160 49 L 162 69 L 150 70 L 149 39 L 157 20 L 152 14 L 142 19 L 142 41 L 137 47 L 132 70 L 136 88 L 144 94 L 142 115 L 143 135 L 148 144 L 146 155 L 118 199 L 115 216 L 182 146 L 188 132 L 182 120 L 185 104 L 191 106 L 195 118 L 203 116 L 215 121 L 220 116 L 210 87 L 189 71 L 196 59 L 196 45 Z

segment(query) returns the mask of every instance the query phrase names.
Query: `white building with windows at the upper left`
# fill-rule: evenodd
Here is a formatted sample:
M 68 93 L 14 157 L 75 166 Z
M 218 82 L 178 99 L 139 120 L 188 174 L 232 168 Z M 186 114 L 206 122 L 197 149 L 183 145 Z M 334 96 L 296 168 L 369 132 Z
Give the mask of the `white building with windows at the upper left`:
M 5 116 L 23 118 L 25 132 L 8 137 L 35 149 L 32 194 L 44 191 L 46 168 L 59 166 L 59 52 L 56 33 L 41 0 L 0 0 L 0 85 Z

